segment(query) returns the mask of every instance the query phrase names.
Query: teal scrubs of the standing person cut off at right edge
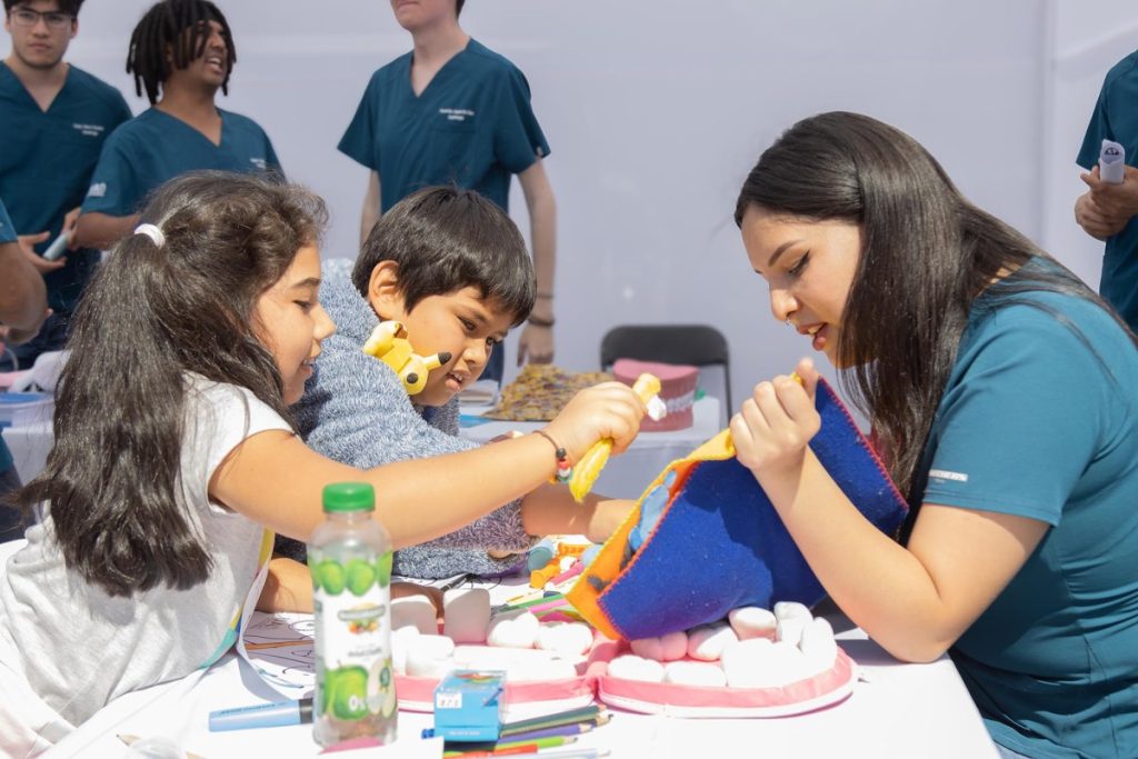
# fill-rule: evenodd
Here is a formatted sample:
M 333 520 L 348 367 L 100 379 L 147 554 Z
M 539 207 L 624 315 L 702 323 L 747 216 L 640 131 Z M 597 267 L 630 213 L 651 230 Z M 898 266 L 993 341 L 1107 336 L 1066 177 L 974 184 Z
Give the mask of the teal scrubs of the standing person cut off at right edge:
M 1120 142 L 1127 165 L 1138 166 L 1138 51 L 1106 73 L 1075 163 L 1087 171 L 1096 166 L 1103 140 Z M 1107 238 L 1098 290 L 1138 330 L 1138 216 Z

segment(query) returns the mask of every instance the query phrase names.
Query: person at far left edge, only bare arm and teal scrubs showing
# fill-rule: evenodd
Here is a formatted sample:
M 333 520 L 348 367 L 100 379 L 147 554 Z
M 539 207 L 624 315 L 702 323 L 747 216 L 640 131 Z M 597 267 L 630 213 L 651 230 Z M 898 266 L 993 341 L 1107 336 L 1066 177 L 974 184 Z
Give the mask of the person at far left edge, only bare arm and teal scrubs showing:
M 22 343 L 34 337 L 48 313 L 43 278 L 31 264 L 31 255 L 20 249 L 16 228 L 0 200 L 0 345 Z M 19 487 L 19 476 L 11 452 L 0 429 L 0 543 L 23 535 L 18 510 L 3 503 L 6 495 Z

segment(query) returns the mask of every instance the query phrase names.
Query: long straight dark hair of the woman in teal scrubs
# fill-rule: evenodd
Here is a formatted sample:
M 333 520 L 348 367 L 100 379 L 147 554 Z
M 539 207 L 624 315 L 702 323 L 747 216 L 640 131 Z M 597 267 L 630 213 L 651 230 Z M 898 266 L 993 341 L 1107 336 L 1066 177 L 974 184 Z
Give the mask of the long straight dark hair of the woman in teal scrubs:
M 847 368 L 842 386 L 871 420 L 902 493 L 914 485 L 978 295 L 998 296 L 993 307 L 1022 303 L 1056 313 L 1016 297 L 1048 290 L 1113 313 L 1024 236 L 970 204 L 916 140 L 868 116 L 827 113 L 790 127 L 743 183 L 736 224 L 751 206 L 860 226 L 838 363 Z M 1033 257 L 1046 265 L 1025 266 Z

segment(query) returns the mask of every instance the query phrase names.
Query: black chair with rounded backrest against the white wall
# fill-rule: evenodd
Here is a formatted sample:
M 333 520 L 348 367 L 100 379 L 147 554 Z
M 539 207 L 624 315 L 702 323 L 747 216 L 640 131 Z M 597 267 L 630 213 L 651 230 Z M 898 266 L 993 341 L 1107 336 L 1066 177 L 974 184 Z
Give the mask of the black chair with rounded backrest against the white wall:
M 707 324 L 624 324 L 613 327 L 601 340 L 601 369 L 609 370 L 617 358 L 659 361 L 667 364 L 723 366 L 723 406 L 726 418 L 731 403 L 731 360 L 727 338 Z

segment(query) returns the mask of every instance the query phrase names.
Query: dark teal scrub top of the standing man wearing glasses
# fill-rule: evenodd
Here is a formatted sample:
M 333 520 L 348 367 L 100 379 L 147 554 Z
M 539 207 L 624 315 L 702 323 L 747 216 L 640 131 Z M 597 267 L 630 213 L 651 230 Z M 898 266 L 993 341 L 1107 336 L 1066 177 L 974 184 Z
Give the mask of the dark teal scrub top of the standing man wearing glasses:
M 0 63 L 0 197 L 11 204 L 20 234 L 49 232 L 47 250 L 64 215 L 83 203 L 99 151 L 115 127 L 131 117 L 122 93 L 75 66 L 47 112 Z M 99 251 L 68 250 L 67 265 L 43 278 L 48 305 L 66 314 L 94 274 Z

